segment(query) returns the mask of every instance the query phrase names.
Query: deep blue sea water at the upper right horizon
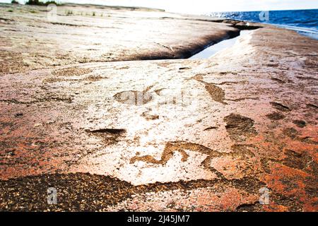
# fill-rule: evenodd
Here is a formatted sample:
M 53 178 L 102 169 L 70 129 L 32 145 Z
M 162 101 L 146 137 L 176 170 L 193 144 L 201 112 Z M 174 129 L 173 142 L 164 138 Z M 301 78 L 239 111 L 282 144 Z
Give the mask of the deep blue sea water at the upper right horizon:
M 296 30 L 301 35 L 307 35 L 318 40 L 318 9 L 249 12 L 210 13 L 208 16 L 245 20 L 257 23 L 269 23 L 279 27 Z M 268 15 L 268 17 L 266 17 Z

